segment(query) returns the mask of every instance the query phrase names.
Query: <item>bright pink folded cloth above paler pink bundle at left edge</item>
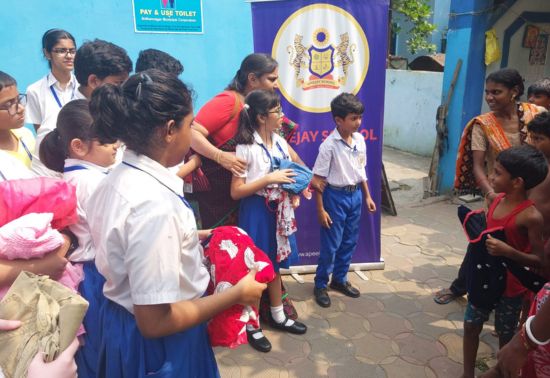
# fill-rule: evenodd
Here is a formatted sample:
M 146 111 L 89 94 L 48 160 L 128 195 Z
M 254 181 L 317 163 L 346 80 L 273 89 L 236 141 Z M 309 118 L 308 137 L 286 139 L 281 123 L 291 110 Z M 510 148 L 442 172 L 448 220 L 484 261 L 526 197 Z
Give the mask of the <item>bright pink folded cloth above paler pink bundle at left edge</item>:
M 51 177 L 0 182 L 0 226 L 29 213 L 53 213 L 57 230 L 75 224 L 76 188 Z

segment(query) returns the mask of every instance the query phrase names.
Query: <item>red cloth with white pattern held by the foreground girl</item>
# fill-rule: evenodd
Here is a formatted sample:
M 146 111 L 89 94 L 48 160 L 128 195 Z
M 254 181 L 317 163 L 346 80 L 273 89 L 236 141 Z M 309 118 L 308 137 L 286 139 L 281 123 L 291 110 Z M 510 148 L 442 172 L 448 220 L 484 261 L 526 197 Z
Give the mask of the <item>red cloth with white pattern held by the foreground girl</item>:
M 210 264 L 212 285 L 210 292 L 220 293 L 231 288 L 250 269 L 256 268 L 256 281 L 267 283 L 275 278 L 269 257 L 261 251 L 243 230 L 238 227 L 218 227 L 204 255 Z M 214 316 L 208 323 L 212 346 L 234 348 L 246 344 L 246 324 L 259 327 L 258 310 L 250 306 L 234 305 Z

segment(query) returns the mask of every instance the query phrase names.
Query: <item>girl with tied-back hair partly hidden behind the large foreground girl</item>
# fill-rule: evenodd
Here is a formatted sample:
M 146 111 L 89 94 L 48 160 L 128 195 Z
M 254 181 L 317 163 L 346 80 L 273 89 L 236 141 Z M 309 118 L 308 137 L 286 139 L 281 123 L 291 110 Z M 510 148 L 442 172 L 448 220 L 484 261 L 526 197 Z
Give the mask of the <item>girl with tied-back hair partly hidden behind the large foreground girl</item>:
M 78 239 L 78 247 L 69 261 L 82 266 L 84 280 L 78 290 L 90 303 L 84 317 L 83 346 L 76 355 L 79 377 L 96 376 L 101 340 L 99 309 L 105 302 L 105 279 L 95 266 L 95 250 L 85 209 L 90 196 L 115 162 L 118 147 L 116 140 L 102 143 L 97 139 L 87 100 L 74 100 L 65 105 L 59 112 L 57 127 L 40 145 L 40 160 L 44 165 L 63 173 L 63 178 L 76 187 L 78 222 L 69 229 Z

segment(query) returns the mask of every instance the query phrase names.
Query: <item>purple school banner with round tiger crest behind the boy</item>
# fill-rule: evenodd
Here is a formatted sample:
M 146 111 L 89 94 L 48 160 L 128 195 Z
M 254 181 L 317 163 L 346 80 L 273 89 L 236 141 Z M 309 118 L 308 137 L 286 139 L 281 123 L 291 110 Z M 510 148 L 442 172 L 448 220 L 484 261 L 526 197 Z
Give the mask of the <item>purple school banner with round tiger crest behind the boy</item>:
M 252 2 L 254 50 L 279 62 L 285 114 L 300 127 L 291 140 L 313 167 L 320 143 L 334 129 L 330 101 L 351 92 L 365 105 L 361 134 L 367 144 L 369 188 L 380 209 L 382 123 L 389 0 L 275 0 Z M 297 210 L 300 261 L 310 271 L 319 256 L 315 200 Z M 381 268 L 380 210 L 362 209 L 354 269 Z

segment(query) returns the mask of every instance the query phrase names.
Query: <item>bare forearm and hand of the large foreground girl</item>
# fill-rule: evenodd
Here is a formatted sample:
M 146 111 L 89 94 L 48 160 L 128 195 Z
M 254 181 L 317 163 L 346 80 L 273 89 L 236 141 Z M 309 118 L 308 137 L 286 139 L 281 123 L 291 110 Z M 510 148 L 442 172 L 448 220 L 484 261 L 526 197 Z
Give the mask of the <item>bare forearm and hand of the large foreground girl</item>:
M 237 285 L 218 294 L 172 304 L 134 305 L 134 315 L 144 337 L 157 338 L 196 326 L 234 304 L 255 305 L 266 284 L 251 270 Z

